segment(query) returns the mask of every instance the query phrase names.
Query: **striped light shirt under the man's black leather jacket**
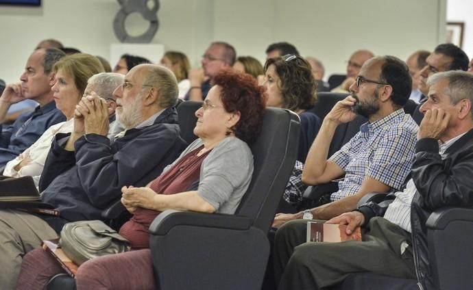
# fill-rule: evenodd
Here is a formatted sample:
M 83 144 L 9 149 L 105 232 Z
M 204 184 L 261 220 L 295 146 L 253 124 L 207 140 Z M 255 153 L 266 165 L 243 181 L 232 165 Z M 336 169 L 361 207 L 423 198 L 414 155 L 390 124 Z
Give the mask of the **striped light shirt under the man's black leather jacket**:
M 465 133 L 440 144 L 439 155 L 441 156 L 441 159 L 446 159 L 447 154 L 445 151 L 464 134 Z M 415 188 L 414 181 L 410 179 L 403 192 L 395 193 L 396 198 L 391 202 L 391 204 L 389 204 L 385 213 L 386 220 L 389 220 L 389 222 L 392 222 L 393 224 L 397 224 L 409 233 L 411 233 L 411 203 L 415 192 L 417 192 L 417 189 Z

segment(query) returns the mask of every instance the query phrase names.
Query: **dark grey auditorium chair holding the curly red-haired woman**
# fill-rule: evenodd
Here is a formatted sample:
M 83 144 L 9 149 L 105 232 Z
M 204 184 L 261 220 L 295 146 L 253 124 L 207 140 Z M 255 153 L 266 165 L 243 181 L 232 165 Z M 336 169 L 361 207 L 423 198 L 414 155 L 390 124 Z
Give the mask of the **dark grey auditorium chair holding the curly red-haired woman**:
M 174 210 L 158 215 L 149 227 L 156 289 L 260 288 L 267 233 L 297 157 L 299 134 L 293 112 L 265 109 L 263 129 L 251 146 L 252 182 L 234 215 Z M 64 287 L 71 280 L 54 278 L 47 289 L 73 289 Z

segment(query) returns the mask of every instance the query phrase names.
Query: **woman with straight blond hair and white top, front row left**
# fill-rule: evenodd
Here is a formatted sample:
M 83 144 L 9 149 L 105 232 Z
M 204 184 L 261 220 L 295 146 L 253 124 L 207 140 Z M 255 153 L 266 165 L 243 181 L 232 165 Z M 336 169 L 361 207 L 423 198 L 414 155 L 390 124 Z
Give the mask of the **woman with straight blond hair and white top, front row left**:
M 68 55 L 56 62 L 53 66 L 53 72 L 55 73 L 55 79 L 51 90 L 54 93 L 56 107 L 66 116 L 66 122 L 49 127 L 32 146 L 29 146 L 23 153 L 8 162 L 3 171 L 5 176 L 33 176 L 36 186 L 38 186 L 45 166 L 51 140 L 57 133 L 70 133 L 72 131 L 75 105 L 79 103 L 84 90 L 87 90 L 86 85 L 89 77 L 104 72 L 104 68 L 97 57 L 86 53 L 77 53 Z M 123 81 L 123 77 L 115 79 L 114 88 L 117 88 L 121 81 Z M 114 88 L 110 91 L 110 97 Z M 97 92 L 99 91 L 97 90 Z

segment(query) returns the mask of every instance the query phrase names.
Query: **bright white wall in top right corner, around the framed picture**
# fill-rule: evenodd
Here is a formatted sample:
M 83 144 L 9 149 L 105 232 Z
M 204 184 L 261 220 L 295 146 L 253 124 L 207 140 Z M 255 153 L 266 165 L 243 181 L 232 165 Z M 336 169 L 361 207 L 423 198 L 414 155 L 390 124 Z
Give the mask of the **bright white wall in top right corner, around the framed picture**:
M 473 57 L 473 1 L 470 0 L 448 0 L 447 21 L 464 22 L 463 27 L 463 51 Z

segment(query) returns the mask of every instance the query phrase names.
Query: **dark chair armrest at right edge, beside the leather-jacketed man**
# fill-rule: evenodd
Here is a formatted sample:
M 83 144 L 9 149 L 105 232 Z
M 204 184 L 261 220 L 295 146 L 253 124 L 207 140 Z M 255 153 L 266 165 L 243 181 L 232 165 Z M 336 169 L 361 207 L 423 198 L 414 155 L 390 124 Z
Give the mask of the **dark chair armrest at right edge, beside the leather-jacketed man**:
M 426 226 L 432 229 L 443 230 L 454 220 L 473 222 L 473 209 L 460 207 L 443 207 L 437 209 L 437 211 L 434 211 L 428 217 Z

